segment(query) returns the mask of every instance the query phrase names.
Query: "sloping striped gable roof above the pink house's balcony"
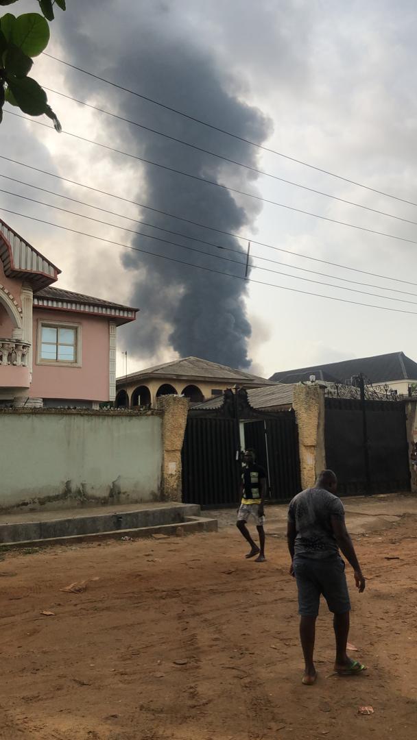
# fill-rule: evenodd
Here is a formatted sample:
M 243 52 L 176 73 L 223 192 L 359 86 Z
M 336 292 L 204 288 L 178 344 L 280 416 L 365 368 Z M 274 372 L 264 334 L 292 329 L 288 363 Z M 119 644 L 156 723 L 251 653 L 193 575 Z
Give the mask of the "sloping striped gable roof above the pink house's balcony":
M 23 277 L 33 290 L 55 283 L 61 270 L 0 218 L 0 259 L 7 277 Z

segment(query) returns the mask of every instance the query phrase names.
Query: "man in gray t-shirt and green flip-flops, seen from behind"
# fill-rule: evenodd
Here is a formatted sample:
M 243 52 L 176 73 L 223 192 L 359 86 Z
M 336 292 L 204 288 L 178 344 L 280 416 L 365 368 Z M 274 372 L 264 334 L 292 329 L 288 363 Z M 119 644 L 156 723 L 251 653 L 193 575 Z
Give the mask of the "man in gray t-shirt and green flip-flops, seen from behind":
M 298 588 L 300 639 L 305 662 L 303 684 L 306 685 L 315 683 L 317 678 L 313 652 L 321 593 L 334 615 L 336 673 L 351 676 L 365 670 L 364 665 L 351 660 L 346 652 L 350 599 L 339 548 L 353 568 L 359 593 L 364 591 L 365 579 L 344 523 L 343 504 L 335 495 L 336 488 L 336 475 L 331 470 L 324 470 L 315 487 L 297 494 L 288 509 L 290 574 L 296 576 Z

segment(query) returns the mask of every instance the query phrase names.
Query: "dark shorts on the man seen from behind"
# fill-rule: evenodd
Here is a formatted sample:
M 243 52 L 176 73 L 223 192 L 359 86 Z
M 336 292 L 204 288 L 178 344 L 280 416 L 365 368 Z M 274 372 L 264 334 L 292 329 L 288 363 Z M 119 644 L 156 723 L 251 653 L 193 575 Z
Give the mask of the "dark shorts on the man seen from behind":
M 296 556 L 294 574 L 298 588 L 298 613 L 317 616 L 321 593 L 333 614 L 350 611 L 349 592 L 340 556 L 313 559 Z

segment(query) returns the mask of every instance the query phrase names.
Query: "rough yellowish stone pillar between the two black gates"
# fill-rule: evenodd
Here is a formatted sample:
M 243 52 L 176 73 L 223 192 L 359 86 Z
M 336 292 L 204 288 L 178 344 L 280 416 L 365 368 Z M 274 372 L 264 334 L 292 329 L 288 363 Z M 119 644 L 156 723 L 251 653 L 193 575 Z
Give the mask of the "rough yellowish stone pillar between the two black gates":
M 310 488 L 326 468 L 324 445 L 324 388 L 318 385 L 294 386 L 293 408 L 298 424 L 301 485 Z

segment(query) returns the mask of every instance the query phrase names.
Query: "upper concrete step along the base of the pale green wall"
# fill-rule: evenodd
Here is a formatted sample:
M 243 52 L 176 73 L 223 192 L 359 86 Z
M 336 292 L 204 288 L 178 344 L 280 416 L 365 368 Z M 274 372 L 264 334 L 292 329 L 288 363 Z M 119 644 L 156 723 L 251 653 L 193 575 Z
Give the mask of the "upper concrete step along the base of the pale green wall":
M 50 516 L 42 518 L 39 515 L 37 521 L 29 520 L 0 522 L 0 545 L 10 545 L 13 542 L 40 542 L 42 540 L 57 540 L 68 537 L 86 535 L 121 534 L 136 530 L 156 531 L 155 528 L 172 525 L 174 529 L 179 525 L 187 523 L 190 518 L 198 519 L 201 514 L 199 505 L 195 504 L 173 504 L 152 505 L 149 507 L 133 509 L 130 511 L 105 512 L 101 508 L 97 514 L 83 516 L 79 511 L 74 512 L 71 517 L 51 519 Z

